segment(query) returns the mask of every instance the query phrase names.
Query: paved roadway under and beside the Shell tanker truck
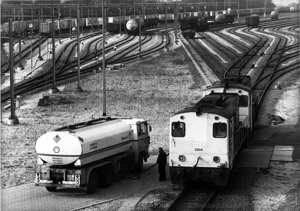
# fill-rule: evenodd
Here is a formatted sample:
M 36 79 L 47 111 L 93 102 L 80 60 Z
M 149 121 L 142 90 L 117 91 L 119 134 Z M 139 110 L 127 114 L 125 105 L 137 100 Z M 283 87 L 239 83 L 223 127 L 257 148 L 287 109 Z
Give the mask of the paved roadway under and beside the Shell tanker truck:
M 132 180 L 129 175 L 117 176 L 113 178 L 109 188 L 98 188 L 94 194 L 69 188 L 58 188 L 55 192 L 48 192 L 45 187 L 36 187 L 34 183 L 3 189 L 1 210 L 71 211 L 171 185 L 168 163 L 167 180 L 156 182 L 159 176 L 156 158 L 157 156 L 151 157 L 144 163 L 143 173 L 139 174 L 140 179 Z

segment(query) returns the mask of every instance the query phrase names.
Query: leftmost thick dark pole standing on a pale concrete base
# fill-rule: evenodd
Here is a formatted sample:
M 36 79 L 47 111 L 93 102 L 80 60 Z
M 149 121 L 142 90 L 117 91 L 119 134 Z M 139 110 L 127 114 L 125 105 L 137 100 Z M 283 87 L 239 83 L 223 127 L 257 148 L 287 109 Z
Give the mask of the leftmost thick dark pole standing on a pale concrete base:
M 19 16 L 20 20 L 20 16 Z M 9 69 L 10 69 L 10 117 L 8 117 L 7 124 L 18 125 L 19 119 L 15 114 L 15 102 L 14 102 L 14 74 L 13 74 L 13 19 L 9 18 Z M 19 53 L 21 55 L 21 52 Z

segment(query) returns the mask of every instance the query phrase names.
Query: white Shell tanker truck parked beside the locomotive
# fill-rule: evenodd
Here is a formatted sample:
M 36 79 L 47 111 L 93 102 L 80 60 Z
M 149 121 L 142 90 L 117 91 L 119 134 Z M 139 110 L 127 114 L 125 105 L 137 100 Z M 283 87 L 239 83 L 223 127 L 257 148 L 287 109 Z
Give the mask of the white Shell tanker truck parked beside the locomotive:
M 97 187 L 109 187 L 113 174 L 131 169 L 140 173 L 149 158 L 148 131 L 146 120 L 110 117 L 49 131 L 35 144 L 42 165 L 35 186 L 94 193 Z

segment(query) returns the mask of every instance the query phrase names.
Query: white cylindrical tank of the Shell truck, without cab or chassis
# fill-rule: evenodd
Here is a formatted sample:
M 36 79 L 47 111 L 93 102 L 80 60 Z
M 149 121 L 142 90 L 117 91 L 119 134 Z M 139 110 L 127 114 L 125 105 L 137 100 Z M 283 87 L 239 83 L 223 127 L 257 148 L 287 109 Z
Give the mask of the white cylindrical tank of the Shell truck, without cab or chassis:
M 116 119 L 79 129 L 50 131 L 38 138 L 35 150 L 45 162 L 67 165 L 79 158 L 128 144 L 132 135 L 133 129 Z

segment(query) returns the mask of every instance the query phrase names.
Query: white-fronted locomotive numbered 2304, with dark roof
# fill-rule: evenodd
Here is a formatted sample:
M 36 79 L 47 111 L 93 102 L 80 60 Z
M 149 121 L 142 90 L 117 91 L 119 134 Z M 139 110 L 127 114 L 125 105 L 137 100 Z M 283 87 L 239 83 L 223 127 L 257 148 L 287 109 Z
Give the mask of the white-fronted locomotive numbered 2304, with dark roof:
M 240 123 L 238 100 L 237 93 L 212 93 L 170 118 L 172 184 L 227 185 L 249 132 L 247 120 Z

